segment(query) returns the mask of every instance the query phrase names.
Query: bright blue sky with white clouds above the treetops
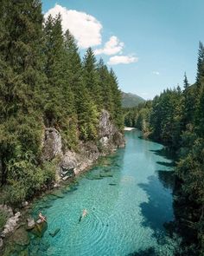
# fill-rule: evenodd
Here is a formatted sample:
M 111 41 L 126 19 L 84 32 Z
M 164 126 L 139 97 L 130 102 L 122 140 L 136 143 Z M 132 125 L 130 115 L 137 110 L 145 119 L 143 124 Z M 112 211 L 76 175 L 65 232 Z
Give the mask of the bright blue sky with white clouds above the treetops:
M 60 10 L 81 54 L 97 49 L 124 92 L 151 99 L 182 86 L 184 72 L 194 83 L 203 0 L 42 0 L 42 10 Z

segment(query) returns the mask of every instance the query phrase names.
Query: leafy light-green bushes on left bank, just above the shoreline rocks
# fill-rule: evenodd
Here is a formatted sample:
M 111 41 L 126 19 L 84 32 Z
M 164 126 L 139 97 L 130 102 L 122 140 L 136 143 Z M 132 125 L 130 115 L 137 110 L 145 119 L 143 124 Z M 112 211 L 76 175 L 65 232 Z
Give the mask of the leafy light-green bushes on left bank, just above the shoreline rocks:
M 7 185 L 3 187 L 4 203 L 21 203 L 55 179 L 52 162 L 36 166 L 35 155 L 31 151 L 23 153 L 20 146 L 16 147 L 16 157 L 10 159 L 7 167 Z

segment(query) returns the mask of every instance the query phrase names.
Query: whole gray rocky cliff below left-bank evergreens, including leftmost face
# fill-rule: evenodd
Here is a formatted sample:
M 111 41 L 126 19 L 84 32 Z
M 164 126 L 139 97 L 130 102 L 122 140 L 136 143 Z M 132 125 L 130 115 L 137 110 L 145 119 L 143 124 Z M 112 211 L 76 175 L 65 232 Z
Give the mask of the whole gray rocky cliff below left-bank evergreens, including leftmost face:
M 60 132 L 55 128 L 46 128 L 43 138 L 42 160 L 50 161 L 60 156 L 60 163 L 57 167 L 57 177 L 66 181 L 68 178 L 80 174 L 100 155 L 112 152 L 116 148 L 124 147 L 124 136 L 118 132 L 110 119 L 110 114 L 102 110 L 99 118 L 99 136 L 97 141 L 80 141 L 80 151 L 62 151 Z

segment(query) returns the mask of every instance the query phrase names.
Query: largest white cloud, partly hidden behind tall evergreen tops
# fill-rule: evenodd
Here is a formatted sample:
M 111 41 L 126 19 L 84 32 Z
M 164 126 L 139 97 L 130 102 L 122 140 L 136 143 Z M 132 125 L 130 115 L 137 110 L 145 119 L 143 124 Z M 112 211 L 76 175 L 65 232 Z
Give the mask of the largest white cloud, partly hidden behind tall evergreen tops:
M 70 30 L 80 48 L 101 44 L 102 24 L 94 16 L 77 10 L 68 10 L 59 4 L 48 10 L 44 16 L 46 19 L 48 15 L 56 16 L 59 13 L 61 13 L 62 30 L 64 32 Z

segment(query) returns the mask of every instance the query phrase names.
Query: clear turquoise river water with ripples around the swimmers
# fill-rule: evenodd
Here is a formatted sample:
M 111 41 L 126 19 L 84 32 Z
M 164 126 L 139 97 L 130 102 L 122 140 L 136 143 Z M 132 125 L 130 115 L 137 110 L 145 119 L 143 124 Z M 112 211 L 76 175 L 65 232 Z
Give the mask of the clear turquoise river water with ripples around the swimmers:
M 161 144 L 140 135 L 126 132 L 124 149 L 105 157 L 71 190 L 35 204 L 33 214 L 45 214 L 48 229 L 41 239 L 31 237 L 30 255 L 173 255 L 175 242 L 163 227 L 174 219 L 171 161 L 160 154 Z

